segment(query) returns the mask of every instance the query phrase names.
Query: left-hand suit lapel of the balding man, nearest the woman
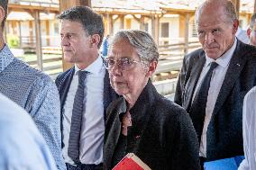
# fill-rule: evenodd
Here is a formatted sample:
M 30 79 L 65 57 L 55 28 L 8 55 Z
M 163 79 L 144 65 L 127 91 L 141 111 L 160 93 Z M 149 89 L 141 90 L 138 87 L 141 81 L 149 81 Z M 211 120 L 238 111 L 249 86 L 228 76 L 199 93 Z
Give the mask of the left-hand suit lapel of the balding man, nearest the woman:
M 198 60 L 197 60 L 198 59 Z M 195 88 L 197 86 L 197 81 L 201 74 L 202 68 L 206 63 L 206 55 L 199 55 L 198 58 L 194 58 L 194 66 L 191 68 L 191 74 L 186 84 L 186 92 L 184 94 L 184 105 L 183 107 L 187 110 L 192 100 Z

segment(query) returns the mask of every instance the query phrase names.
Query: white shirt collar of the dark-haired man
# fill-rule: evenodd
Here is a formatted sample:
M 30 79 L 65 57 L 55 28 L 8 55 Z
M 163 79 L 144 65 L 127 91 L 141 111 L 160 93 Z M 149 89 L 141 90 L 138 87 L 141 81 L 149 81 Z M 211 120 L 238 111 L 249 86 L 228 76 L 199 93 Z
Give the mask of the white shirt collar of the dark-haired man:
M 83 69 L 82 71 L 87 71 L 91 74 L 100 74 L 102 69 L 104 69 L 103 67 L 103 59 L 99 56 L 98 58 L 96 58 L 96 60 L 90 64 L 87 68 Z M 78 71 L 80 70 L 80 68 L 78 68 L 77 65 L 75 65 L 75 74 L 78 74 Z

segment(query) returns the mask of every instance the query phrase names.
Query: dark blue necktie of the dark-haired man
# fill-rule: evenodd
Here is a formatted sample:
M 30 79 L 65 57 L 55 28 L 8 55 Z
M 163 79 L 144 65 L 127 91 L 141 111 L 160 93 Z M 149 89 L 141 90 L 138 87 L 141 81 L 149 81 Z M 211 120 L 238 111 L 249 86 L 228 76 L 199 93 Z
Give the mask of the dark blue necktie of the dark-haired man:
M 85 94 L 85 79 L 87 76 L 87 71 L 78 71 L 78 90 L 75 95 L 72 117 L 71 117 L 71 127 L 69 133 L 69 148 L 68 155 L 75 162 L 79 162 L 79 141 L 80 141 L 80 131 L 82 114 L 85 108 L 83 108 L 83 101 L 86 96 Z

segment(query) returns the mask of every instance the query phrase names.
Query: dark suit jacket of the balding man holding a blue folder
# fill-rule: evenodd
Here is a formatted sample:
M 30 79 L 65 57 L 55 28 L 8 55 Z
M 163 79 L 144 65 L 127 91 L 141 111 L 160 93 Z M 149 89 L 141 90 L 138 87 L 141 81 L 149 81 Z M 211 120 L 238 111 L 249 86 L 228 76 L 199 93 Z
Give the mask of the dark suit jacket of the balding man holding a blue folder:
M 187 112 L 205 62 L 206 54 L 203 49 L 197 49 L 184 58 L 174 102 L 184 107 Z M 242 102 L 244 95 L 254 85 L 256 49 L 237 40 L 207 129 L 207 160 L 243 155 Z M 197 123 L 193 115 L 190 117 L 193 123 Z

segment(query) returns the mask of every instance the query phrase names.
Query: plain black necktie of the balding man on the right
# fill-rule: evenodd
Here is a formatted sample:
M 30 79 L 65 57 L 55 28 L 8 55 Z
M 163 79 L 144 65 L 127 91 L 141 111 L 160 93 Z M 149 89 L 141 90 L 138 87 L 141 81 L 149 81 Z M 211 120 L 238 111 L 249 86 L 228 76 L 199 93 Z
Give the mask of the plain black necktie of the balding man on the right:
M 201 85 L 197 89 L 197 94 L 194 97 L 194 101 L 191 104 L 189 115 L 193 121 L 193 125 L 195 130 L 197 131 L 197 137 L 200 142 L 204 121 L 206 116 L 206 103 L 207 103 L 207 96 L 208 91 L 211 83 L 211 78 L 213 75 L 213 71 L 215 67 L 218 66 L 216 62 L 210 63 L 210 69 L 206 73 L 206 76 L 202 80 Z

